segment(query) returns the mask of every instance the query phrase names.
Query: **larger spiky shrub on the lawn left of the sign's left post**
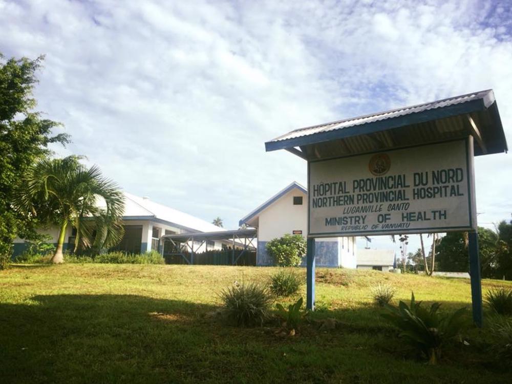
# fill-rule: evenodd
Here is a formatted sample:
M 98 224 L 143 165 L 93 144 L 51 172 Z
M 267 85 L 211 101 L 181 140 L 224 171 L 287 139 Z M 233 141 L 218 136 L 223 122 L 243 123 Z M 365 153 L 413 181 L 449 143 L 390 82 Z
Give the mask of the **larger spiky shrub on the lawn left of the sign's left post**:
M 269 289 L 258 283 L 235 283 L 222 290 L 220 297 L 238 326 L 263 325 L 273 301 Z

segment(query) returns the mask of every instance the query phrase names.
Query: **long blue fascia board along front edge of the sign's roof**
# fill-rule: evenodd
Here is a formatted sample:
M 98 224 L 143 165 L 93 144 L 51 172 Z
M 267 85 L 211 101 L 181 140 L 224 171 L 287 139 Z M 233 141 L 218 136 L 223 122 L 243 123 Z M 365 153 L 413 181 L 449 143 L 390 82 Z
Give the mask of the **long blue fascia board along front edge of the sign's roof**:
M 479 98 L 459 104 L 453 104 L 407 115 L 390 117 L 383 120 L 348 126 L 346 128 L 336 129 L 328 132 L 319 132 L 316 134 L 310 134 L 291 139 L 267 141 L 265 143 L 265 150 L 266 152 L 270 152 L 295 146 L 310 145 L 330 140 L 344 139 L 351 136 L 367 135 L 379 131 L 398 128 L 401 126 L 418 124 L 430 120 L 443 119 L 451 116 L 482 111 L 486 109 L 486 104 L 488 101 L 490 100 L 487 100 L 486 98 Z

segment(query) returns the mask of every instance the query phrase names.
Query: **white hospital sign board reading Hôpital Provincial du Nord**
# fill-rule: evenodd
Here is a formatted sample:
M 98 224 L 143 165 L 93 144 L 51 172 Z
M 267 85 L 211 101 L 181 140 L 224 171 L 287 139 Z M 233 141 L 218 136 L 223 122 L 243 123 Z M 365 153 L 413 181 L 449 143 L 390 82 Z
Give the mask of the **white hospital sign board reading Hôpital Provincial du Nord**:
M 311 237 L 476 229 L 472 137 L 308 166 Z

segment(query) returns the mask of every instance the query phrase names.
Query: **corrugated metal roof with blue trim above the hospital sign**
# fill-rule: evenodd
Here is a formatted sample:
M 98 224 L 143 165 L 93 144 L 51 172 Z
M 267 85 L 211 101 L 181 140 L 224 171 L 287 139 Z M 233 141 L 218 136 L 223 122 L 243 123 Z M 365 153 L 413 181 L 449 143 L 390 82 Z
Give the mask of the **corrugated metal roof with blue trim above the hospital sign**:
M 475 155 L 507 151 L 493 90 L 313 125 L 265 143 L 305 159 L 329 158 L 475 137 Z

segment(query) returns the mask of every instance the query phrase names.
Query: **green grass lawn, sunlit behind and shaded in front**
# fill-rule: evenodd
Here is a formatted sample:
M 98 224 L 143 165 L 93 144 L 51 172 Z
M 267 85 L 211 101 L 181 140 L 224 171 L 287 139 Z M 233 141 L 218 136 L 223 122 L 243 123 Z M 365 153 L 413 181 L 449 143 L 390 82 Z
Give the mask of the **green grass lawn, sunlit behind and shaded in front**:
M 305 277 L 304 269 L 297 269 Z M 236 328 L 208 314 L 234 281 L 268 281 L 275 268 L 181 265 L 16 265 L 0 272 L 0 382 L 512 382 L 481 347 L 447 347 L 426 365 L 371 303 L 386 280 L 396 299 L 471 308 L 468 280 L 317 269 L 312 322 L 278 337 L 273 324 Z M 485 292 L 509 282 L 483 281 Z M 305 287 L 302 295 L 305 297 Z M 296 297 L 289 301 L 296 300 Z M 279 300 L 285 302 L 285 300 Z

